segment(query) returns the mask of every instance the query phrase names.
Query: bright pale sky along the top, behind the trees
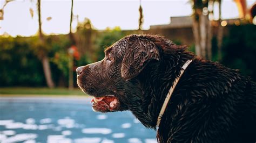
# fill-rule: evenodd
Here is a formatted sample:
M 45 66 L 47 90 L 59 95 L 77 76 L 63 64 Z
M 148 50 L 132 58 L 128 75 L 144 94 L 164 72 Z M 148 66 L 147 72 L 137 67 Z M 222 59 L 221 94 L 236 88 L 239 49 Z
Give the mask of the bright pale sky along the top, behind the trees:
M 247 5 L 255 3 L 247 0 Z M 0 0 L 2 9 L 4 0 Z M 38 31 L 36 0 L 16 0 L 8 3 L 4 8 L 4 20 L 0 20 L 0 35 L 8 33 L 31 36 Z M 142 0 L 144 23 L 143 29 L 150 25 L 169 24 L 170 17 L 190 16 L 191 3 L 188 0 Z M 33 17 L 30 15 L 33 10 Z M 48 0 L 41 2 L 42 29 L 45 34 L 69 33 L 71 0 Z M 98 30 L 106 27 L 119 26 L 122 30 L 138 29 L 139 0 L 84 0 L 73 2 L 73 23 L 75 31 L 77 22 L 89 18 Z M 223 19 L 238 18 L 238 9 L 233 0 L 223 0 L 221 5 Z M 78 15 L 78 19 L 77 16 Z M 46 18 L 51 17 L 51 20 Z

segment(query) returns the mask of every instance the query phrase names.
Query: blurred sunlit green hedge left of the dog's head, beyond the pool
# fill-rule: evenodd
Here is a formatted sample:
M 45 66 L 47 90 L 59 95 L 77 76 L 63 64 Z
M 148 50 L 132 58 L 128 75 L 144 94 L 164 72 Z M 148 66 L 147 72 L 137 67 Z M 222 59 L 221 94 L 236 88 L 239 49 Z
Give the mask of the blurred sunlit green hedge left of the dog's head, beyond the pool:
M 89 21 L 88 21 L 89 22 Z M 84 27 L 85 28 L 85 27 Z M 82 28 L 82 30 L 84 30 Z M 77 32 L 79 33 L 79 32 Z M 125 36 L 126 32 L 120 28 L 111 30 L 108 28 L 99 34 L 99 37 L 93 42 L 97 47 L 96 55 L 98 59 L 104 58 L 104 48 L 112 45 L 114 42 Z M 84 34 L 83 32 L 79 34 Z M 41 61 L 38 60 L 38 54 L 42 50 L 48 53 L 52 78 L 57 85 L 68 84 L 68 48 L 71 46 L 68 35 L 49 35 L 45 36 L 45 47 L 40 47 L 38 37 L 0 37 L 0 86 L 45 86 L 45 78 Z M 104 45 L 104 46 L 103 46 Z M 93 54 L 93 53 L 86 53 Z M 79 60 L 75 60 L 75 69 L 81 65 L 87 65 L 91 61 L 89 56 L 81 55 Z M 76 75 L 74 76 L 76 81 Z M 61 83 L 64 82 L 64 83 Z M 76 84 L 76 82 L 75 82 Z

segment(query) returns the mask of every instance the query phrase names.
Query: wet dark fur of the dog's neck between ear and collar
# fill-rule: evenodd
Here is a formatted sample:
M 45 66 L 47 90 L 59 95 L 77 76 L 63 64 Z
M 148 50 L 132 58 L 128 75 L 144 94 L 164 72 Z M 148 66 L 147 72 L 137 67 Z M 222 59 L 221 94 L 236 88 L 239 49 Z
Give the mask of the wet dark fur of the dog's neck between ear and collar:
M 187 60 L 194 57 L 190 52 L 166 54 L 159 63 L 152 63 L 140 75 L 143 100 L 142 111 L 132 111 L 133 114 L 146 127 L 156 129 L 157 118 L 164 103 L 167 92 L 171 88 L 175 78 L 179 75 L 181 67 Z

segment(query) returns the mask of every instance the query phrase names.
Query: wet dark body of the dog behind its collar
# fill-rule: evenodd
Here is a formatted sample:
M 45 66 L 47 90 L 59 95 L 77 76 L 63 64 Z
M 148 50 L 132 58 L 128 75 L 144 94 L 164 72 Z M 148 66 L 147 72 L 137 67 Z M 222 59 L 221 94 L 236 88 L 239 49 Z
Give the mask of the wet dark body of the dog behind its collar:
M 250 78 L 196 59 L 175 90 L 163 117 L 171 120 L 159 126 L 160 142 L 256 141 L 256 84 Z

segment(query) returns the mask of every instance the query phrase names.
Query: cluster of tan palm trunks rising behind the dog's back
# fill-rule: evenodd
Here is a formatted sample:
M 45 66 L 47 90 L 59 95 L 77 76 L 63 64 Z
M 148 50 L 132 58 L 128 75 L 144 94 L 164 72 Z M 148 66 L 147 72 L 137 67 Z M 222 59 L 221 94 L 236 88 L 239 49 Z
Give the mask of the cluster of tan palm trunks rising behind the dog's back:
M 203 56 L 207 59 L 212 59 L 212 20 L 213 20 L 213 5 L 217 2 L 219 4 L 219 24 L 218 24 L 218 55 L 220 57 L 220 47 L 223 39 L 223 27 L 220 25 L 221 22 L 221 10 L 220 4 L 221 0 L 192 0 L 192 8 L 193 8 L 193 25 L 192 30 L 195 39 L 196 46 L 196 54 L 199 56 Z M 208 6 L 212 7 L 209 9 Z M 211 18 L 209 18 L 209 16 Z

